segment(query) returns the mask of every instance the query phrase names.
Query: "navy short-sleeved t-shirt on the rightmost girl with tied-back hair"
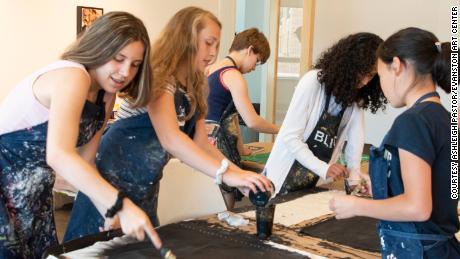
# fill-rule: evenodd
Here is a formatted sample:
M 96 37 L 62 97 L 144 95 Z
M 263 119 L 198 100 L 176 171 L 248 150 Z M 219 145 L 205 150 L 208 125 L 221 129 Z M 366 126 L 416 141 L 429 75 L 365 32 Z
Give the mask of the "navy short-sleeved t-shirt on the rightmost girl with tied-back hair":
M 458 200 L 450 195 L 450 113 L 439 103 L 414 105 L 396 118 L 384 144 L 406 150 L 431 165 L 433 211 L 430 221 L 416 223 L 417 227 L 436 232 L 434 223 L 447 234 L 455 234 L 459 221 Z

